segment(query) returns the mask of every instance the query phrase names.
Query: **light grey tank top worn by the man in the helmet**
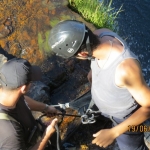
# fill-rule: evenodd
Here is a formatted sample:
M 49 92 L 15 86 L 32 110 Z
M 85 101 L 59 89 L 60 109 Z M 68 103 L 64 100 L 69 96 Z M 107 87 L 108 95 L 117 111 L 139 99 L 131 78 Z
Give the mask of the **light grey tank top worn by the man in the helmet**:
M 97 60 L 91 61 L 92 69 L 92 99 L 103 115 L 110 115 L 119 119 L 130 116 L 139 108 L 129 91 L 115 85 L 115 71 L 125 59 L 137 59 L 127 47 L 125 41 L 114 32 L 103 32 L 100 37 L 113 36 L 124 46 L 123 52 L 106 69 L 99 68 Z

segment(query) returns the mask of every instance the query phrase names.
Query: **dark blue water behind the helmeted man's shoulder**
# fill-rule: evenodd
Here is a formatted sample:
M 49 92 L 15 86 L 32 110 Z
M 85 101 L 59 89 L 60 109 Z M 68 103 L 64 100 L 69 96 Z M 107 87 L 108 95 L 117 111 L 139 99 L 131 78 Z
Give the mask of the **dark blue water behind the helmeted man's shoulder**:
M 112 7 L 123 5 L 117 21 L 119 35 L 138 55 L 142 72 L 150 86 L 150 0 L 113 0 Z

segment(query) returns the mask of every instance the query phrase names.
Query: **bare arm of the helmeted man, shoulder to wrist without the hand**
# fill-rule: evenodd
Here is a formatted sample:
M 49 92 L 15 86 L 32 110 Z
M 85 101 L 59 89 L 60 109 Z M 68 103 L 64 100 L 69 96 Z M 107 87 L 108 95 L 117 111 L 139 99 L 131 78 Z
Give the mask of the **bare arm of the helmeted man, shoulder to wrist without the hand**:
M 123 87 L 127 88 L 141 105 L 127 120 L 116 126 L 118 135 L 126 132 L 129 125 L 139 125 L 150 118 L 150 88 L 145 83 L 141 68 L 136 60 L 129 59 L 119 66 Z

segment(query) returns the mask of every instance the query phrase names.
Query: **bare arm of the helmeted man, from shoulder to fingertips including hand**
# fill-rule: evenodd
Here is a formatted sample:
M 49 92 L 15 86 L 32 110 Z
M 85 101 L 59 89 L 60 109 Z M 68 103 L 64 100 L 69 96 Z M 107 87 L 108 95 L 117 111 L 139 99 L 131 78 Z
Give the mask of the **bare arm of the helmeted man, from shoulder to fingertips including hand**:
M 146 85 L 140 66 L 136 60 L 126 60 L 117 68 L 116 78 L 120 87 L 127 88 L 141 107 L 135 111 L 128 119 L 119 125 L 111 128 L 100 130 L 93 136 L 95 139 L 92 143 L 107 147 L 115 138 L 125 133 L 129 125 L 139 125 L 150 118 L 150 88 Z

